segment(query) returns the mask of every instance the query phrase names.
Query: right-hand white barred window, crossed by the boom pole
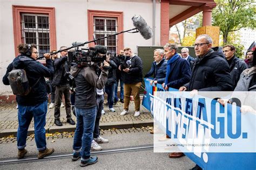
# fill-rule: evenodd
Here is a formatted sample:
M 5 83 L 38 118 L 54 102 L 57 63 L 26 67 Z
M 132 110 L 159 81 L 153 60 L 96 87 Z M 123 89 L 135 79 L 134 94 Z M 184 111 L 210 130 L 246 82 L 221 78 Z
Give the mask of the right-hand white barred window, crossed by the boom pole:
M 117 33 L 117 19 L 116 18 L 100 18 L 94 17 L 93 33 L 96 39 L 110 36 Z M 96 41 L 97 45 L 104 45 L 110 53 L 117 53 L 117 36 L 112 36 L 102 40 Z

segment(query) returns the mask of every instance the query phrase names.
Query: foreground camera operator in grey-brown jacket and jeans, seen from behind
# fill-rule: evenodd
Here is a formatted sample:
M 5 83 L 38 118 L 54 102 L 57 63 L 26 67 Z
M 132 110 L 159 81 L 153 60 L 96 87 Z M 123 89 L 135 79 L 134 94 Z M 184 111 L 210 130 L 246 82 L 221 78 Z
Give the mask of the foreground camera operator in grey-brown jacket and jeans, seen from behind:
M 99 77 L 96 74 L 97 68 L 90 65 L 78 65 L 71 68 L 71 74 L 76 83 L 75 110 L 77 117 L 72 160 L 78 160 L 81 157 L 80 166 L 82 167 L 95 164 L 98 161 L 97 157 L 90 157 L 97 111 L 96 88 L 104 87 L 109 66 L 109 63 L 104 61 Z

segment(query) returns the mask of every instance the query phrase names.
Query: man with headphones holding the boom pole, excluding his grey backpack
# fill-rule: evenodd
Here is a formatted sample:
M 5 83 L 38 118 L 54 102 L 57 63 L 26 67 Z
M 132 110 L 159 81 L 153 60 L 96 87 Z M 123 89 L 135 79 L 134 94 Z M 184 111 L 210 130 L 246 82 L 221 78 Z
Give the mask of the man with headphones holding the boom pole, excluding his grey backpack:
M 26 137 L 32 118 L 35 124 L 35 140 L 37 150 L 39 151 L 38 158 L 41 159 L 54 152 L 53 148 L 46 148 L 44 129 L 48 103 L 44 77 L 51 77 L 53 75 L 52 62 L 49 53 L 44 54 L 46 67 L 36 61 L 38 52 L 35 44 L 19 44 L 18 51 L 21 55 L 17 56 L 17 58 L 10 63 L 3 77 L 3 83 L 10 85 L 8 80 L 9 72 L 11 72 L 12 69 L 24 69 L 31 87 L 28 95 L 16 95 L 19 123 L 17 131 L 18 159 L 22 159 L 28 152 L 25 150 Z

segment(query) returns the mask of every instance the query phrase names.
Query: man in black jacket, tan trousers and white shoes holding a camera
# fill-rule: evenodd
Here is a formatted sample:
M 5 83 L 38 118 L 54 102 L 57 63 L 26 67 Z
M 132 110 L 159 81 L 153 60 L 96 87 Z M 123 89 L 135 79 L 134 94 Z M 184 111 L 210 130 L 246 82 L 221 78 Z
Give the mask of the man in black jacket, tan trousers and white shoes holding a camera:
M 127 114 L 130 104 L 130 96 L 133 95 L 135 104 L 134 117 L 140 115 L 140 97 L 139 89 L 142 86 L 142 59 L 137 55 L 133 55 L 131 48 L 124 49 L 124 55 L 130 56 L 130 60 L 127 60 L 127 68 L 122 69 L 122 65 L 119 66 L 119 70 L 122 70 L 124 74 L 124 110 L 121 112 L 121 116 Z

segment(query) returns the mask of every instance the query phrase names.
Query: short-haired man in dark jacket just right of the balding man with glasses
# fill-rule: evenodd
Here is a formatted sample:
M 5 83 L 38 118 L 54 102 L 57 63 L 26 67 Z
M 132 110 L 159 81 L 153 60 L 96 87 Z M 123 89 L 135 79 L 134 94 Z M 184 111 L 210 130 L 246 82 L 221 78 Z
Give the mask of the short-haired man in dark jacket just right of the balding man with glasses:
M 225 45 L 223 47 L 223 53 L 226 57 L 228 65 L 230 66 L 230 74 L 233 82 L 232 90 L 234 90 L 235 87 L 237 87 L 237 82 L 240 78 L 242 71 L 248 68 L 244 60 L 237 58 L 237 56 L 234 55 L 234 52 L 235 47 L 233 45 Z

